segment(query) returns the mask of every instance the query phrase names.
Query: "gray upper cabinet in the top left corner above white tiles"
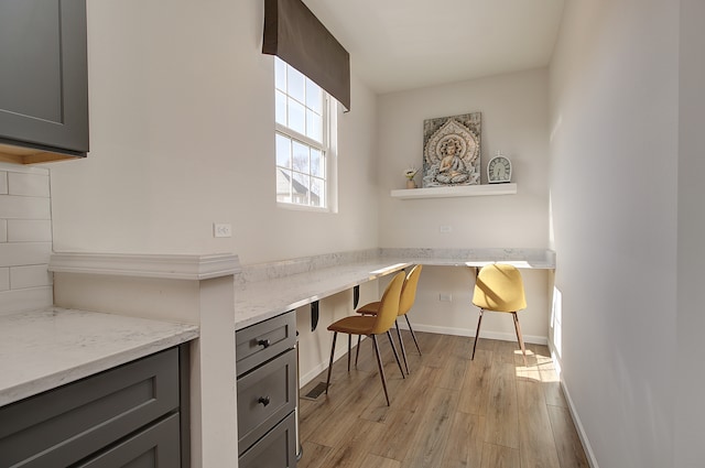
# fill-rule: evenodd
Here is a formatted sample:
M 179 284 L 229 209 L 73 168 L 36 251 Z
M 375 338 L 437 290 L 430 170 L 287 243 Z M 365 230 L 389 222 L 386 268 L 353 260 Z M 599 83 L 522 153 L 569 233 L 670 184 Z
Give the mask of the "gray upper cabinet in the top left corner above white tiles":
M 0 160 L 88 152 L 86 0 L 0 1 Z

